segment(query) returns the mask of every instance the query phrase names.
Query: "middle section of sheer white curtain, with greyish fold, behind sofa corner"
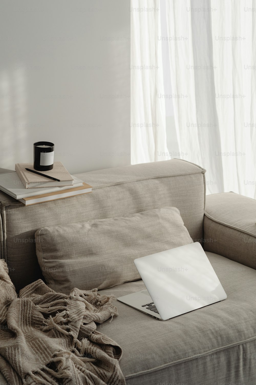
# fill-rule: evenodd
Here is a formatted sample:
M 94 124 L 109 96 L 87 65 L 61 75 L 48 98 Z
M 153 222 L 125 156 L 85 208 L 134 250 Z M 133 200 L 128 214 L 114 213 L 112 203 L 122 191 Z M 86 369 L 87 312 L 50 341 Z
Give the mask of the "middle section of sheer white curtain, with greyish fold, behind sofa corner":
M 220 127 L 215 105 L 214 64 L 210 0 L 166 1 L 170 72 L 173 92 L 186 99 L 173 99 L 175 128 L 180 150 L 187 160 L 207 170 L 208 193 L 223 191 Z M 178 135 L 177 135 L 178 136 Z

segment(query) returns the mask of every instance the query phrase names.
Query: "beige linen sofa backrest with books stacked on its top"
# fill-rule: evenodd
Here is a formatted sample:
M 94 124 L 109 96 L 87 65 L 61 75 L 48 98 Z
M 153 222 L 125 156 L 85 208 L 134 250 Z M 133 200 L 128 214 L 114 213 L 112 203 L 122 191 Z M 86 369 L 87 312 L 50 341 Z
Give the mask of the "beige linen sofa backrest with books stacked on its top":
M 43 278 L 36 258 L 35 233 L 46 226 L 126 216 L 174 206 L 190 236 L 203 237 L 205 170 L 172 159 L 77 174 L 93 186 L 91 194 L 28 207 L 0 192 L 1 258 L 16 290 Z M 1 241 L 2 239 L 2 241 Z

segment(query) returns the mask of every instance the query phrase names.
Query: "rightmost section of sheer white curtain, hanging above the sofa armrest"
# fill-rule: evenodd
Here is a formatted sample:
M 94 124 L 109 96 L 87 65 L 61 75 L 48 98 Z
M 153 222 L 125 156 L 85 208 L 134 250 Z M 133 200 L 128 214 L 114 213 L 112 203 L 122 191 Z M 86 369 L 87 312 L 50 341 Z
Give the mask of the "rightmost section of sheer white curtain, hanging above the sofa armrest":
M 255 198 L 255 100 L 256 82 L 252 0 L 212 0 L 211 14 L 215 62 L 216 110 L 220 124 L 224 191 Z

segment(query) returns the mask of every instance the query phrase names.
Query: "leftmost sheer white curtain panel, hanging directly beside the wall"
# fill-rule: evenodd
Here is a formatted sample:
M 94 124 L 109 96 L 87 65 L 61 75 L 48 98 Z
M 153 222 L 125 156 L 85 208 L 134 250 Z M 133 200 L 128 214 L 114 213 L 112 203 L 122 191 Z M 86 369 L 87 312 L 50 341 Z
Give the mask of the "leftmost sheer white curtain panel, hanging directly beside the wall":
M 170 159 L 159 0 L 131 1 L 131 163 Z

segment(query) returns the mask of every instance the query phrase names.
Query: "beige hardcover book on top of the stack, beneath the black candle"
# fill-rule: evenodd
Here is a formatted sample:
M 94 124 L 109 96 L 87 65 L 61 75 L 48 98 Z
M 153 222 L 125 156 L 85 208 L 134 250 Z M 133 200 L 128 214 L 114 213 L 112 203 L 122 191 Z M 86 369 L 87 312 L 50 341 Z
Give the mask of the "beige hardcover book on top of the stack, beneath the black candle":
M 46 174 L 54 178 L 60 179 L 60 182 L 53 181 L 52 179 L 49 179 L 47 177 L 27 171 L 26 168 L 34 170 L 32 163 L 15 164 L 15 171 L 17 172 L 21 182 L 24 184 L 26 189 L 33 187 L 35 188 L 71 186 L 73 184 L 73 177 L 69 174 L 68 170 L 63 166 L 61 162 L 54 162 L 52 170 L 40 171 L 42 174 Z

